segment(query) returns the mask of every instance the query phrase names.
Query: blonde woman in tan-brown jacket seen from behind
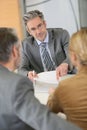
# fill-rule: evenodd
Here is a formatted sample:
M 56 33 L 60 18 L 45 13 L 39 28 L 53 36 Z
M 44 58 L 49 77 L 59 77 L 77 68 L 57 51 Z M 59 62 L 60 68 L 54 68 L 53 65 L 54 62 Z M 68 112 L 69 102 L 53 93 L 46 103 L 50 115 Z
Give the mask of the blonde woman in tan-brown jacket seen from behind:
M 72 35 L 69 55 L 78 72 L 59 83 L 47 105 L 54 113 L 65 113 L 67 120 L 87 130 L 87 29 Z

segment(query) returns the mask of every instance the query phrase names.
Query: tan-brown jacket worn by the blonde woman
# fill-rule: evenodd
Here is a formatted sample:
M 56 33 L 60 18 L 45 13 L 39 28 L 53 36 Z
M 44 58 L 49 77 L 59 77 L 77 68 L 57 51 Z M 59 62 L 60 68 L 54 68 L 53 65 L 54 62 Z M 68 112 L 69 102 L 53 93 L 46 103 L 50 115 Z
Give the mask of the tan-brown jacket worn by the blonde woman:
M 61 81 L 47 105 L 55 113 L 64 112 L 67 120 L 87 130 L 87 67 Z

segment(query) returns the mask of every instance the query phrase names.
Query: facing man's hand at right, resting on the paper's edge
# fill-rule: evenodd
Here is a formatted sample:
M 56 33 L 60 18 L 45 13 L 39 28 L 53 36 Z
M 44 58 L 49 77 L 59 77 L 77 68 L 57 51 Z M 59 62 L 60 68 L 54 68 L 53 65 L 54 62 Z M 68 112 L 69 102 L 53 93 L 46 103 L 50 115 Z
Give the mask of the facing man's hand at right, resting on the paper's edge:
M 56 77 L 59 79 L 59 77 L 66 75 L 68 72 L 68 64 L 62 63 L 56 68 Z

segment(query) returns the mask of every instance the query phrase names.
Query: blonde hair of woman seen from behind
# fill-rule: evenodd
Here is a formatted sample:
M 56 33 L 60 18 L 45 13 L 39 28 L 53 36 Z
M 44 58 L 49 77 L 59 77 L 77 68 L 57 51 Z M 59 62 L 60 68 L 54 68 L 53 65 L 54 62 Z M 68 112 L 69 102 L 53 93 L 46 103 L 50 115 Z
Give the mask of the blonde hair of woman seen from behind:
M 69 51 L 75 52 L 82 65 L 87 65 L 87 29 L 81 29 L 72 35 Z

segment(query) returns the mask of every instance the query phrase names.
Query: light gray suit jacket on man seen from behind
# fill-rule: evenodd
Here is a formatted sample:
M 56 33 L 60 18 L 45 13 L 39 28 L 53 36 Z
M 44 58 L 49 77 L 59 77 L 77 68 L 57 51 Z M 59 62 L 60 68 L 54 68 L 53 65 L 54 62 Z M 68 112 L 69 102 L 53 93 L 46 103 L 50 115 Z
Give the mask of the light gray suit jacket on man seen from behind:
M 34 97 L 31 81 L 0 65 L 0 130 L 80 130 Z

